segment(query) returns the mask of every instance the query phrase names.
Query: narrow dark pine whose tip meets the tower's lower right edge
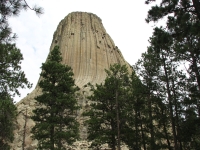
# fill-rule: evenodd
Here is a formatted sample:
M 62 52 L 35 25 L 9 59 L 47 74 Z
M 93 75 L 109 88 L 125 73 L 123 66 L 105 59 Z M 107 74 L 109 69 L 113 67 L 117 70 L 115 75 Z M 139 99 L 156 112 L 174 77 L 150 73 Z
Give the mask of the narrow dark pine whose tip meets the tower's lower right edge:
M 128 123 L 131 130 L 127 130 L 125 143 L 133 150 L 146 149 L 146 136 L 144 134 L 143 110 L 145 109 L 145 86 L 136 75 L 132 72 L 130 82 L 130 93 L 128 98 Z

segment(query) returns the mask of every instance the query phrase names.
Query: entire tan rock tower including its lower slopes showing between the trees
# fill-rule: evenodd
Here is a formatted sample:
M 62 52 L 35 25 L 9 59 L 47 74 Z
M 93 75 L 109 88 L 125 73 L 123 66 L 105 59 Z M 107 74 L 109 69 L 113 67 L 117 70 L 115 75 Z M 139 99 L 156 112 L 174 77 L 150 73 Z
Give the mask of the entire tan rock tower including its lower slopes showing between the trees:
M 81 141 L 75 143 L 74 149 L 87 149 L 87 128 L 84 127 L 84 118 L 80 115 L 86 109 L 88 103 L 83 91 L 84 85 L 101 83 L 106 78 L 105 69 L 111 64 L 126 65 L 131 71 L 130 65 L 124 60 L 120 50 L 114 44 L 111 37 L 103 27 L 101 19 L 92 13 L 73 12 L 68 14 L 59 23 L 53 35 L 50 50 L 55 45 L 60 47 L 63 64 L 72 67 L 75 84 L 81 89 L 77 98 L 81 105 L 78 121 L 80 123 Z M 40 80 L 40 79 L 39 79 Z M 86 92 L 88 90 L 86 89 Z M 15 140 L 13 150 L 21 150 L 22 146 L 27 150 L 36 148 L 37 141 L 31 138 L 31 128 L 34 122 L 30 119 L 32 110 L 37 107 L 34 98 L 41 94 L 38 86 L 20 102 L 18 102 L 18 117 L 16 122 Z

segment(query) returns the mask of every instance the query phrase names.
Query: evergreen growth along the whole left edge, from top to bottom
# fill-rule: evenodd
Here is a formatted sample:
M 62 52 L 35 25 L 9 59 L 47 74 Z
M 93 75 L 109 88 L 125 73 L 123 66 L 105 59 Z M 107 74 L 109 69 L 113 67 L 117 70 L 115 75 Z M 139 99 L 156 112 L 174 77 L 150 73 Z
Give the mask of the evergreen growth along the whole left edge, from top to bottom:
M 13 96 L 20 93 L 19 88 L 31 87 L 24 72 L 21 70 L 22 54 L 13 39 L 8 24 L 8 18 L 16 16 L 23 9 L 30 8 L 25 0 L 1 0 L 0 1 L 0 149 L 10 149 L 8 143 L 13 141 L 14 120 L 16 119 L 16 106 Z M 31 9 L 31 8 L 30 8 Z M 34 7 L 37 14 L 42 9 Z

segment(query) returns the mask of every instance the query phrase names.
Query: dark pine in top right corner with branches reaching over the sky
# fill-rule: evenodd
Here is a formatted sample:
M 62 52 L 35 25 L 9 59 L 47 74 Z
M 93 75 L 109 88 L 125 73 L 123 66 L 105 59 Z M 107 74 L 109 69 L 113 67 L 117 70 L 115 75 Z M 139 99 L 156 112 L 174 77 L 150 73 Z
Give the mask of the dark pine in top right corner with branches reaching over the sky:
M 149 3 L 152 0 L 147 0 Z M 186 64 L 185 68 L 190 76 L 190 92 L 196 95 L 198 116 L 200 117 L 200 2 L 198 0 L 167 0 L 160 5 L 153 6 L 146 21 L 158 21 L 167 17 L 166 29 L 173 37 L 173 53 L 176 60 Z

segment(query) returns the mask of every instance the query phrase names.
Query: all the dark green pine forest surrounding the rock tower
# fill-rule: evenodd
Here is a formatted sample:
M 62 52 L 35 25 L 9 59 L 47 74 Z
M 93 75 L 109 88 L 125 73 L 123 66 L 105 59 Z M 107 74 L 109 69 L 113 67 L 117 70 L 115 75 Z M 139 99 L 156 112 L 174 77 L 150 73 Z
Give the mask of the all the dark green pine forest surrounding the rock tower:
M 91 149 L 107 143 L 112 150 L 127 145 L 133 150 L 200 150 L 200 2 L 198 0 L 146 0 L 152 7 L 146 22 L 159 22 L 149 38 L 150 46 L 134 64 L 113 64 L 103 83 L 91 85 L 88 119 Z M 11 5 L 8 5 L 11 4 Z M 9 150 L 14 138 L 19 88 L 32 85 L 21 70 L 23 56 L 15 45 L 8 18 L 30 8 L 24 0 L 0 2 L 0 149 Z M 73 71 L 62 63 L 55 46 L 42 64 L 41 106 L 32 119 L 38 149 L 62 150 L 79 139 L 75 112 L 80 109 Z M 22 148 L 23 149 L 23 148 Z

